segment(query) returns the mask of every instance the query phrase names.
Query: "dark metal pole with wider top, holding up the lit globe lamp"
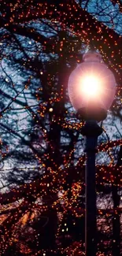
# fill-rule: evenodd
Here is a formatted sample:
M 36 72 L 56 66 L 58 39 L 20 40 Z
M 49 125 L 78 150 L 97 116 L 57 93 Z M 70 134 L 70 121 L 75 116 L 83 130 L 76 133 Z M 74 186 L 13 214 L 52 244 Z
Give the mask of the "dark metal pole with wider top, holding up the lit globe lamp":
M 96 121 L 87 121 L 82 129 L 86 136 L 86 206 L 85 206 L 85 251 L 86 256 L 95 256 L 97 250 L 96 242 L 96 186 L 95 186 L 95 152 L 98 135 L 102 134 L 102 128 Z

